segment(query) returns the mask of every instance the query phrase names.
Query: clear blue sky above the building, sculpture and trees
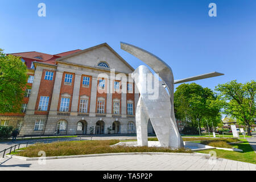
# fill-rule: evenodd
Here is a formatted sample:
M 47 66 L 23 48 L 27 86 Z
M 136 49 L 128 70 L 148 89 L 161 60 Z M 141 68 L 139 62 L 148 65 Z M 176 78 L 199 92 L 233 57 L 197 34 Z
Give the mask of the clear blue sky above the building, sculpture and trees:
M 46 17 L 38 16 L 41 2 Z M 212 2 L 217 17 L 208 15 Z M 2 0 L 0 48 L 55 54 L 106 42 L 134 68 L 142 65 L 120 48 L 122 41 L 166 61 L 175 79 L 225 73 L 194 81 L 214 89 L 255 80 L 255 7 L 254 0 Z

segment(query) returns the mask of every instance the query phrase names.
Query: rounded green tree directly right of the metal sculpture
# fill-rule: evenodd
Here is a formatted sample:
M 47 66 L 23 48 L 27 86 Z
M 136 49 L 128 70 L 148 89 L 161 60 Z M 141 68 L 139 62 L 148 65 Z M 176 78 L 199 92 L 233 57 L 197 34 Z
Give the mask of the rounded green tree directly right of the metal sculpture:
M 220 119 L 221 102 L 209 88 L 203 88 L 195 83 L 181 84 L 174 93 L 174 109 L 177 119 L 188 126 L 207 128 L 217 126 Z

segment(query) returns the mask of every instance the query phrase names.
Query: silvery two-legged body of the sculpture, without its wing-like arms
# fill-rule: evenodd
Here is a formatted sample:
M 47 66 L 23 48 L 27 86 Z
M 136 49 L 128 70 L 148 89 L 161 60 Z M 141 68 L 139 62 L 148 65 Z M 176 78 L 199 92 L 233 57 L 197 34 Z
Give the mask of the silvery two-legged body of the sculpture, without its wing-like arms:
M 183 141 L 180 137 L 179 130 L 175 121 L 171 118 L 171 102 L 168 93 L 163 85 L 159 82 L 159 96 L 154 100 L 148 99 L 150 94 L 147 92 L 145 85 L 151 84 L 151 80 L 146 79 L 146 75 L 152 74 L 146 66 L 139 66 L 132 77 L 140 93 L 139 101 L 136 108 L 136 129 L 139 146 L 147 146 L 147 124 L 150 119 L 155 130 L 156 137 L 162 147 L 183 147 Z M 135 76 L 138 75 L 138 76 Z M 158 78 L 156 78 L 158 79 Z M 181 140 L 181 141 L 180 141 Z

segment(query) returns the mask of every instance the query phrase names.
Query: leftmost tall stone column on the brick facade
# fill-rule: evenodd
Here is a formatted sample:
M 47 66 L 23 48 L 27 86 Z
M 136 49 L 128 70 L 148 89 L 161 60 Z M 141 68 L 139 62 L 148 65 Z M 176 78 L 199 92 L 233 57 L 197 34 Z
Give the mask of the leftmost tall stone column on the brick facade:
M 38 92 L 39 92 L 42 75 L 43 75 L 43 69 L 38 67 L 35 70 L 34 81 L 31 87 L 31 93 L 30 93 L 30 98 L 28 100 L 26 114 L 34 114 L 35 110 L 37 109 L 35 108 L 35 105 L 36 105 L 36 100 L 38 98 Z

